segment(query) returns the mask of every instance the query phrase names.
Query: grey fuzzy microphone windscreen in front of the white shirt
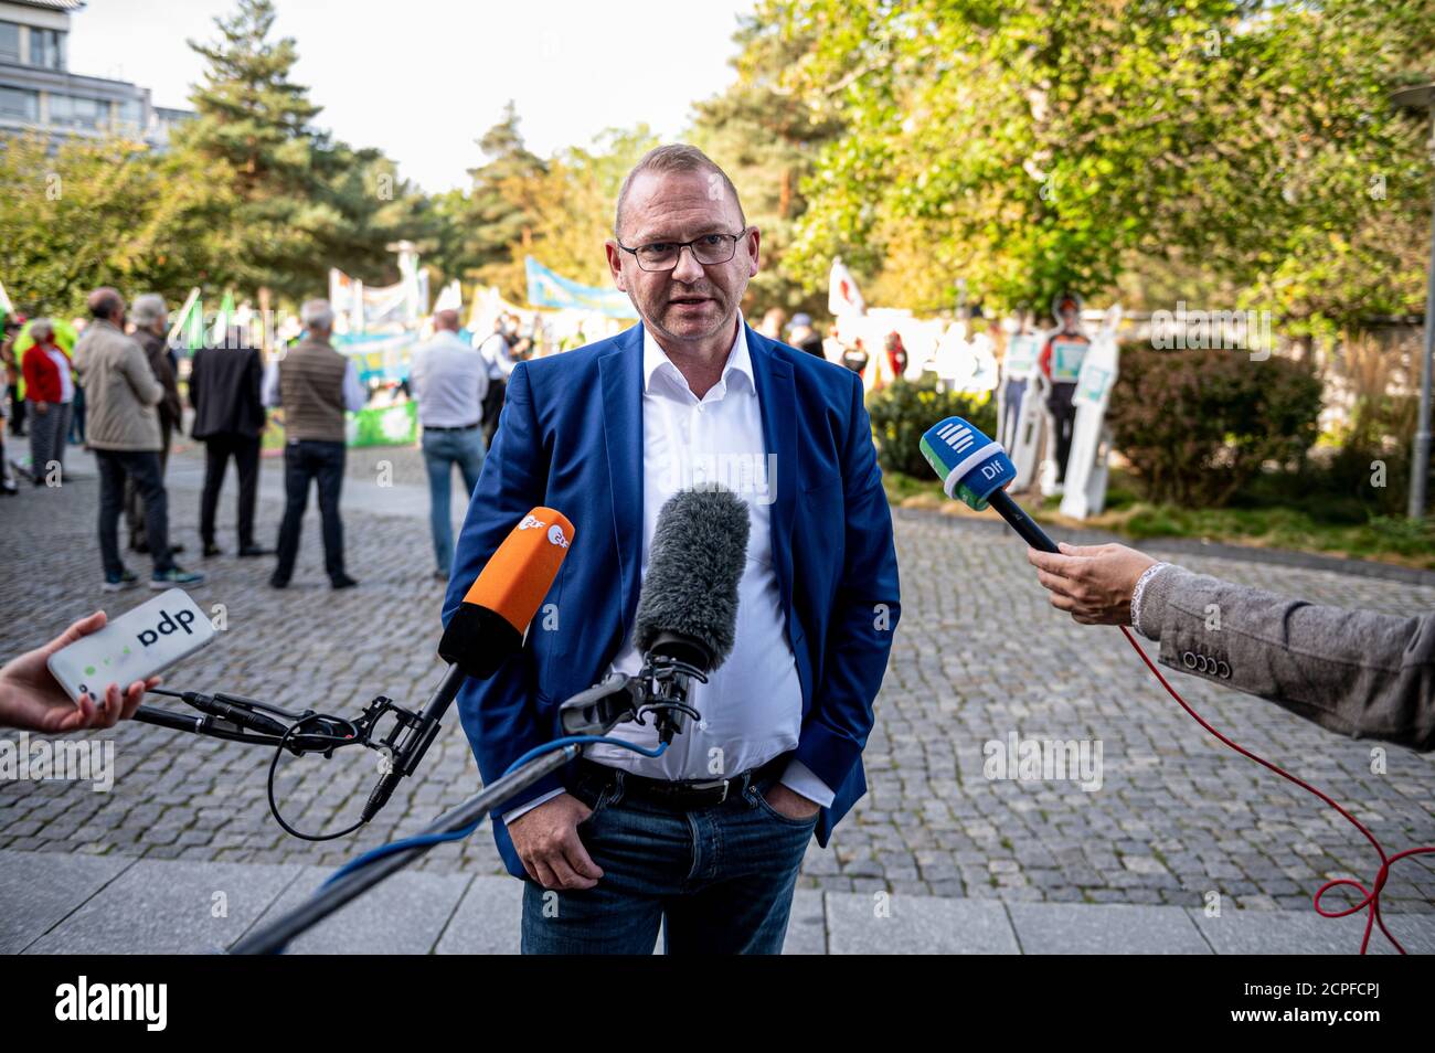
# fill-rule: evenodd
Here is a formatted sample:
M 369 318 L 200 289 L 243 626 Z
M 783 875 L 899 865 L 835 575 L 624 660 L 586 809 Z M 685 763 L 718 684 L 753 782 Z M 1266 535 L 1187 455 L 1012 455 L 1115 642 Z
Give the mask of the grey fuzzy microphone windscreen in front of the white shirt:
M 641 654 L 663 654 L 705 673 L 732 654 L 748 532 L 748 505 L 729 489 L 680 491 L 667 499 L 633 621 Z

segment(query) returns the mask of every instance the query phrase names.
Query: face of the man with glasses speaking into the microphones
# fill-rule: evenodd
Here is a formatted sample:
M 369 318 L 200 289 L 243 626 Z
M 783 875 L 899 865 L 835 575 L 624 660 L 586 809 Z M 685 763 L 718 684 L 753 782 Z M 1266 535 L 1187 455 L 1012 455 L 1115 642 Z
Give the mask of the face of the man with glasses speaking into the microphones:
M 709 179 L 706 172 L 643 172 L 629 188 L 621 230 L 629 248 L 740 231 L 738 202 L 716 174 Z M 758 273 L 758 231 L 749 230 L 732 260 L 707 267 L 684 248 L 677 267 L 662 273 L 641 270 L 631 252 L 608 241 L 608 268 L 654 334 L 699 341 L 730 333 L 748 280 Z

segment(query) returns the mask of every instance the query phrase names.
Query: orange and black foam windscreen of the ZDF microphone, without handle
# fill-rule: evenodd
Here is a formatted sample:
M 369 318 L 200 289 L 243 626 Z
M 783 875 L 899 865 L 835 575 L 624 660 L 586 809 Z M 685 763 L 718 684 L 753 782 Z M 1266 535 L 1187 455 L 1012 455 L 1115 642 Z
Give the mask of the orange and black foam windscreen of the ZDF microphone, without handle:
M 552 508 L 535 508 L 504 538 L 453 613 L 439 657 L 471 677 L 491 677 L 524 646 L 528 624 L 548 595 L 573 544 L 573 524 Z

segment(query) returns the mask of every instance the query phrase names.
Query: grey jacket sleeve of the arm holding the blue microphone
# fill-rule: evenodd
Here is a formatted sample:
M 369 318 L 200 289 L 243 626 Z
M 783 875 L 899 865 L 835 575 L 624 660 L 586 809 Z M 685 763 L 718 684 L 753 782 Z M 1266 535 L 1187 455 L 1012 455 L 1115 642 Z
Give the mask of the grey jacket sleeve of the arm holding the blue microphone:
M 1435 613 L 1317 607 L 1164 567 L 1135 617 L 1165 666 L 1340 735 L 1435 749 Z

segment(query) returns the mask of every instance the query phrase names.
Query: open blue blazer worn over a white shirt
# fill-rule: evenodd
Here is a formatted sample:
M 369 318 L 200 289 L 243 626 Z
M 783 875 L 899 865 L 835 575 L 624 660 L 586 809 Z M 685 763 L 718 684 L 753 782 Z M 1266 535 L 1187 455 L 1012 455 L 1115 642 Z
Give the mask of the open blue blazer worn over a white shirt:
M 743 323 L 746 324 L 746 323 Z M 835 792 L 818 844 L 867 792 L 861 755 L 897 628 L 897 554 L 871 423 L 855 373 L 748 329 L 762 430 L 776 455 L 773 568 L 802 684 L 795 756 Z M 474 491 L 443 598 L 448 625 L 518 521 L 547 505 L 574 541 L 522 651 L 465 681 L 459 716 L 485 782 L 558 736 L 558 706 L 596 683 L 633 627 L 643 544 L 643 326 L 574 351 L 519 363 Z M 742 617 L 742 611 L 738 613 Z M 508 812 L 565 785 L 550 775 Z M 524 877 L 498 812 L 508 871 Z

